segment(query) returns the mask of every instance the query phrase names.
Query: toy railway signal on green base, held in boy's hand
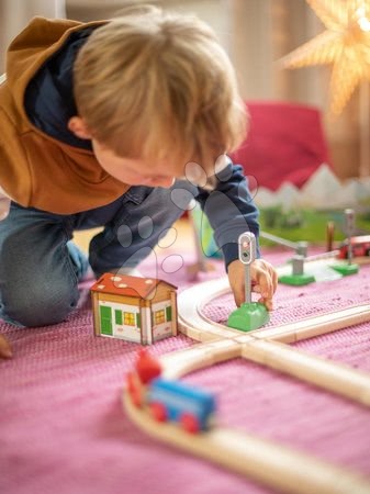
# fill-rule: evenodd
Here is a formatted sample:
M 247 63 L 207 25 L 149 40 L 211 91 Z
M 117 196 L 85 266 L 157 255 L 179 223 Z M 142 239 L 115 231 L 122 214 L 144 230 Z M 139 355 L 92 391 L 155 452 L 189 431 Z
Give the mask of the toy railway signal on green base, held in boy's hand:
M 257 329 L 269 321 L 266 306 L 259 302 L 251 302 L 250 265 L 256 259 L 256 237 L 246 232 L 239 236 L 239 260 L 245 265 L 245 303 L 232 312 L 227 326 L 242 332 Z

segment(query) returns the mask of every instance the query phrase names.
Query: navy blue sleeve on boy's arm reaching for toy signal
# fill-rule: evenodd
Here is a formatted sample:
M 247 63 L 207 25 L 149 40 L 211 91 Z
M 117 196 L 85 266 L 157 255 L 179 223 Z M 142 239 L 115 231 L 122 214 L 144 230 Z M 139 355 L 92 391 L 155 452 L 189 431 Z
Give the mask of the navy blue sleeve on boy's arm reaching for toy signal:
M 257 257 L 259 252 L 259 212 L 248 189 L 243 167 L 228 164 L 217 173 L 217 186 L 213 191 L 199 189 L 199 201 L 214 231 L 214 240 L 222 249 L 225 266 L 238 259 L 238 237 L 245 232 L 256 236 Z

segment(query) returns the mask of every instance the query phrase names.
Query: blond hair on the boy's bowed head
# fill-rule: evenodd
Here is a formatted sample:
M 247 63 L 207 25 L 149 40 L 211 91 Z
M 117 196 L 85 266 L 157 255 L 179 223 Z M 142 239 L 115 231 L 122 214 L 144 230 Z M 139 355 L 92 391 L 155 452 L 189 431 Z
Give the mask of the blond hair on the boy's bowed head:
M 245 138 L 246 112 L 232 64 L 195 16 L 154 7 L 99 26 L 74 67 L 77 108 L 93 138 L 116 155 L 199 162 Z

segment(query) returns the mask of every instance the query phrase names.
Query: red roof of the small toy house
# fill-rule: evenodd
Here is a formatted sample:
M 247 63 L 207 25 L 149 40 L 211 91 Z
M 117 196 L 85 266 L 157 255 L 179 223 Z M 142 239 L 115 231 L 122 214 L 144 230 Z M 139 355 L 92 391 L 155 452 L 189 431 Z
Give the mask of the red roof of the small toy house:
M 111 293 L 114 295 L 150 299 L 150 295 L 160 283 L 166 283 L 167 285 L 177 289 L 173 284 L 168 283 L 167 281 L 158 280 L 157 278 L 138 278 L 130 277 L 127 274 L 105 272 L 99 278 L 90 290 L 92 292 Z

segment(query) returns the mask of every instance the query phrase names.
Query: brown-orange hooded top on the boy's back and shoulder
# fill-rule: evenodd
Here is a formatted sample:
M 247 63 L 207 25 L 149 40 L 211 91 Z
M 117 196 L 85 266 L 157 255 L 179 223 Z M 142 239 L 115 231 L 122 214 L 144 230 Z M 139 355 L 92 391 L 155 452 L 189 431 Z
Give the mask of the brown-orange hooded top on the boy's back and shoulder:
M 128 189 L 92 151 L 36 128 L 24 109 L 27 83 L 45 60 L 71 32 L 99 24 L 35 18 L 9 47 L 0 86 L 0 187 L 22 206 L 72 214 L 109 204 Z

